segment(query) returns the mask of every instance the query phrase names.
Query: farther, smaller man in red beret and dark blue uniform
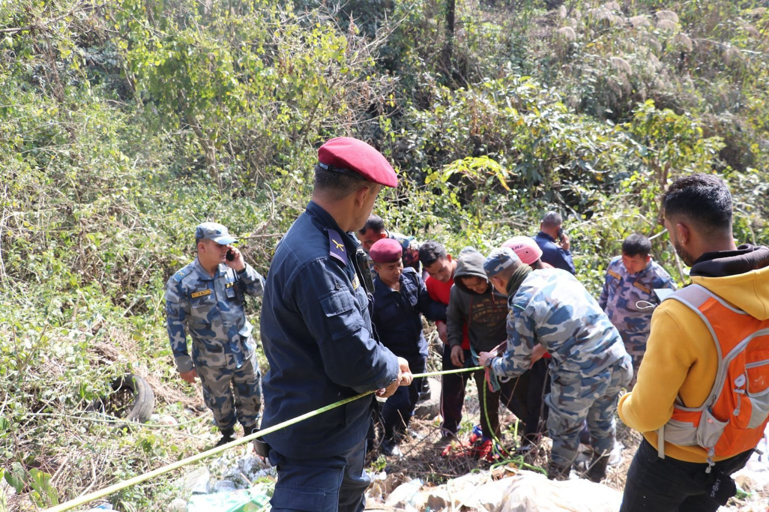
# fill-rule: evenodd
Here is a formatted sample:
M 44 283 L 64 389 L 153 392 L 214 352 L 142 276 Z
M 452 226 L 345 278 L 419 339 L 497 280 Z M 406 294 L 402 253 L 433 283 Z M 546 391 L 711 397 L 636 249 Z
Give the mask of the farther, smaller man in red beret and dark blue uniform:
M 424 372 L 428 358 L 428 342 L 422 333 L 422 315 L 428 320 L 446 321 L 446 306 L 430 298 L 416 270 L 403 266 L 403 247 L 397 240 L 383 238 L 368 251 L 374 260 L 374 309 L 371 322 L 375 337 L 395 355 L 408 361 L 414 373 Z M 414 407 L 417 405 L 421 378 L 415 378 L 408 388 L 401 387 L 384 402 L 384 436 L 381 451 L 385 455 L 401 456 L 398 444 L 407 431 Z

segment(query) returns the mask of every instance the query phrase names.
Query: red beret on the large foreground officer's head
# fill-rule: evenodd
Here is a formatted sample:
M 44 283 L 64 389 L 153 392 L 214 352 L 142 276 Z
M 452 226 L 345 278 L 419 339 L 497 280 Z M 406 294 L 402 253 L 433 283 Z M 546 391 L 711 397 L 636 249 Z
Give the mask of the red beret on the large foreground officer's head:
M 352 137 L 328 140 L 318 149 L 318 162 L 339 173 L 355 173 L 385 187 L 398 187 L 398 177 L 390 163 L 363 140 Z

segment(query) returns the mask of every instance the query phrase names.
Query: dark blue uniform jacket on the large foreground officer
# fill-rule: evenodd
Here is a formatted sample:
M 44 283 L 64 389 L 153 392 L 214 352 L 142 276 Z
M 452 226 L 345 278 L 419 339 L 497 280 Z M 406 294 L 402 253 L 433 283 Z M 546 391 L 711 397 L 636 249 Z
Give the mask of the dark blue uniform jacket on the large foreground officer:
M 398 358 L 371 337 L 368 293 L 355 272 L 357 246 L 313 202 L 278 244 L 261 306 L 270 363 L 261 428 L 398 378 Z M 365 438 L 371 406 L 371 397 L 360 398 L 265 439 L 285 457 L 341 454 Z

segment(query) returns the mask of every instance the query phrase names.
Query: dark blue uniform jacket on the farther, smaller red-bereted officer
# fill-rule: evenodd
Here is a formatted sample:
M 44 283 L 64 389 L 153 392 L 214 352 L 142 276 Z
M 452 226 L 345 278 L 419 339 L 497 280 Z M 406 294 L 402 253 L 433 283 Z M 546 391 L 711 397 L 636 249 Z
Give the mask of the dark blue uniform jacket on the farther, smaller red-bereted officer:
M 422 316 L 446 321 L 446 306 L 430 298 L 428 289 L 411 267 L 403 269 L 401 291 L 396 292 L 374 279 L 374 310 L 371 322 L 376 338 L 395 355 L 412 358 L 428 355 L 428 342 L 422 333 Z

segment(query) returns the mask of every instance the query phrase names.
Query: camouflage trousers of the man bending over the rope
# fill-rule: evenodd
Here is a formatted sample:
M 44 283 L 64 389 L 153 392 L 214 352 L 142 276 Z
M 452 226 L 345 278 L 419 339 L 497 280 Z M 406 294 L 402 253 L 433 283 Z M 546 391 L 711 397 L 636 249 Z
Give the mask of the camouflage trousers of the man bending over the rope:
M 550 408 L 548 432 L 553 440 L 551 461 L 570 466 L 577 456 L 579 434 L 588 420 L 590 442 L 596 453 L 608 454 L 614 448 L 616 424 L 614 412 L 621 388 L 633 377 L 630 356 L 615 362 L 604 372 L 588 378 L 571 378 L 564 382 L 553 373 L 550 394 L 544 398 Z

